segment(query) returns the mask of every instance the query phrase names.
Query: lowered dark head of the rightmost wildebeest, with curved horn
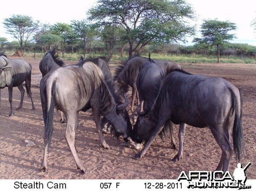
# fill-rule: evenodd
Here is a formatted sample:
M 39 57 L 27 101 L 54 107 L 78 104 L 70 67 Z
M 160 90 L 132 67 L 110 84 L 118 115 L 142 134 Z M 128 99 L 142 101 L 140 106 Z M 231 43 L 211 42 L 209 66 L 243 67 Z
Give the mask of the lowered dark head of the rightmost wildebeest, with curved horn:
M 147 143 L 148 138 L 150 137 L 155 125 L 157 124 L 157 121 L 151 118 L 149 111 L 140 112 L 140 105 L 138 105 L 136 109 L 139 116 L 137 117 L 137 121 L 134 125 L 131 138 L 137 143 Z

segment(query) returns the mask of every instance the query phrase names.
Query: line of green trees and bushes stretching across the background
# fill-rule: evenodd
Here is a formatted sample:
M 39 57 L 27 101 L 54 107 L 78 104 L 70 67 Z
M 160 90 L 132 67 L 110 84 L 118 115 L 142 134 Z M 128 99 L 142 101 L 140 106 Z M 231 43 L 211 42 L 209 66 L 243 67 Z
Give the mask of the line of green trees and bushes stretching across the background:
M 236 24 L 230 21 L 204 20 L 201 38 L 192 46 L 181 46 L 186 37 L 195 35 L 189 20 L 195 13 L 185 0 L 98 0 L 87 12 L 87 19 L 70 24 L 42 24 L 32 17 L 12 15 L 3 26 L 16 41 L 0 37 L 0 49 L 24 52 L 47 52 L 53 47 L 64 57 L 65 52 L 85 56 L 143 52 L 163 54 L 239 55 L 255 57 L 255 47 L 230 44 Z M 252 22 L 255 27 L 255 20 Z

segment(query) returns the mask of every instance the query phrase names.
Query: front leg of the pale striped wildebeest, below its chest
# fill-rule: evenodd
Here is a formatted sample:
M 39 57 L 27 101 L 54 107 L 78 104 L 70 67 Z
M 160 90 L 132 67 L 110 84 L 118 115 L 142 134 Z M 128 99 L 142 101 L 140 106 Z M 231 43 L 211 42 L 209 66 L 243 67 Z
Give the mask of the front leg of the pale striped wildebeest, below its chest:
M 106 148 L 106 149 L 111 149 L 111 147 L 108 145 L 108 143 L 106 143 L 106 141 L 104 140 L 104 137 L 103 137 L 103 134 L 102 134 L 102 126 L 101 126 L 101 123 L 100 123 L 99 106 L 98 107 L 92 107 L 92 111 L 93 111 L 93 118 L 94 118 L 94 121 L 95 121 L 96 129 L 97 129 L 97 132 L 99 134 L 99 139 L 100 139 L 100 142 L 102 144 L 102 147 Z

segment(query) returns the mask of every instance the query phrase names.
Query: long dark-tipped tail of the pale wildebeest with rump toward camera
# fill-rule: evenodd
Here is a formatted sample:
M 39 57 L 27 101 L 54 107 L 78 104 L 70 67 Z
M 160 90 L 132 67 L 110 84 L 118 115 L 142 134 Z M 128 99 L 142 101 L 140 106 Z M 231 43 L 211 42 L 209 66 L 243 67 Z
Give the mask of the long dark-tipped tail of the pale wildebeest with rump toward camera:
M 46 119 L 44 126 L 44 140 L 48 143 L 48 148 L 50 147 L 53 133 L 53 110 L 54 110 L 54 97 L 53 97 L 53 89 L 54 83 L 47 84 L 46 90 L 46 100 L 47 100 L 47 108 L 46 108 Z

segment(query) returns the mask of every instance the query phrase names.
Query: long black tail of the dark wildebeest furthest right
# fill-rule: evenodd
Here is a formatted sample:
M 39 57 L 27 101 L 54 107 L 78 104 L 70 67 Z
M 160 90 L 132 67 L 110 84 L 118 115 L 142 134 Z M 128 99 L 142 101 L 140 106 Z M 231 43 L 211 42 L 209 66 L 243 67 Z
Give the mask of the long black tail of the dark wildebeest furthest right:
M 241 153 L 243 150 L 243 129 L 242 129 L 242 94 L 239 90 L 239 96 L 236 96 L 233 90 L 231 96 L 233 100 L 233 113 L 235 112 L 235 120 L 233 125 L 233 145 L 236 154 L 236 160 L 240 161 Z M 237 100 L 239 99 L 239 101 Z

